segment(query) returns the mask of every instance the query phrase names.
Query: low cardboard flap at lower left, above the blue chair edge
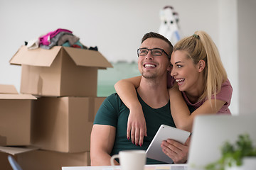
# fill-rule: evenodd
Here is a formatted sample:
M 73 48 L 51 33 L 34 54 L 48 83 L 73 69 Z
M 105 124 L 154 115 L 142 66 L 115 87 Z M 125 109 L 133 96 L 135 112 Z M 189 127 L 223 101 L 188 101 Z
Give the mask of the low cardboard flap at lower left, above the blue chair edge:
M 30 152 L 33 150 L 38 150 L 39 147 L 34 147 L 34 146 L 26 146 L 26 147 L 0 147 L 0 152 L 4 152 L 7 154 L 22 154 L 24 152 Z

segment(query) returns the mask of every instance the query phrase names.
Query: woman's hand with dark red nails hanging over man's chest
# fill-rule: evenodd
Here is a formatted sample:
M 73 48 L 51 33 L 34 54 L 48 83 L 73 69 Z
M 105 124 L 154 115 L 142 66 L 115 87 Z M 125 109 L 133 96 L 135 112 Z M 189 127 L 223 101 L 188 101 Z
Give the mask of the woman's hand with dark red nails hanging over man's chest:
M 127 139 L 137 146 L 143 145 L 143 139 L 146 135 L 146 120 L 142 108 L 130 110 L 127 122 Z

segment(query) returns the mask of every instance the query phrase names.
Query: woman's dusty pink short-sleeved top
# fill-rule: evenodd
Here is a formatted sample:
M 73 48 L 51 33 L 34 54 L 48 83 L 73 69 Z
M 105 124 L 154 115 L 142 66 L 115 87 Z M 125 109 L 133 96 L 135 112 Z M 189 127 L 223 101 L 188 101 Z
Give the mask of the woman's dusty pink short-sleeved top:
M 230 106 L 232 92 L 233 92 L 233 88 L 232 88 L 232 86 L 230 84 L 230 81 L 227 79 L 227 81 L 225 81 L 221 85 L 220 92 L 216 95 L 216 99 L 218 99 L 220 101 L 225 101 L 226 102 L 224 104 L 224 106 L 222 108 L 220 108 L 220 111 L 218 111 L 217 114 L 231 114 L 228 106 Z M 184 91 L 182 91 L 182 94 L 183 94 L 183 98 L 185 99 L 186 103 L 188 105 L 190 105 L 190 106 L 195 107 L 196 109 L 199 108 L 206 101 L 206 99 L 205 99 L 205 100 L 199 101 L 197 103 L 191 103 L 188 100 L 188 97 L 186 96 Z M 214 99 L 214 96 L 212 96 L 211 98 Z

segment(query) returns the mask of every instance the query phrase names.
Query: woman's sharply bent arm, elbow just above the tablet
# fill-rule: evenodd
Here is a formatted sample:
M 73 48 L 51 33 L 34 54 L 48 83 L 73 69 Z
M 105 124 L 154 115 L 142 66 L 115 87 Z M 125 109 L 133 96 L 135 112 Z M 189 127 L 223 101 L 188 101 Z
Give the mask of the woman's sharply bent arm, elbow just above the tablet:
M 192 131 L 193 127 L 193 119 L 196 115 L 204 115 L 204 114 L 213 114 L 218 113 L 220 108 L 223 107 L 225 101 L 216 100 L 216 107 L 215 101 L 207 100 L 201 105 L 196 111 L 190 113 L 188 110 L 188 106 L 183 99 L 181 91 L 178 90 L 178 86 L 174 86 L 169 89 L 169 96 L 170 96 L 170 105 L 171 105 L 171 115 L 174 118 L 174 123 L 178 129 L 187 130 L 189 132 Z M 210 105 L 213 106 L 211 106 Z

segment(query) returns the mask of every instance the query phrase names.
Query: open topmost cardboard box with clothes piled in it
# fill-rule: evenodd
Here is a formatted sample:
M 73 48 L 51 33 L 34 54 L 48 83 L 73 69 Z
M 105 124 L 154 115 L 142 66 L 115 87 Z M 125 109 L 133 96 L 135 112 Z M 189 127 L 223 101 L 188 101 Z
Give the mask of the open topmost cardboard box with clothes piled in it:
M 22 46 L 11 64 L 20 64 L 21 93 L 36 96 L 97 96 L 97 69 L 112 64 L 95 50 Z

